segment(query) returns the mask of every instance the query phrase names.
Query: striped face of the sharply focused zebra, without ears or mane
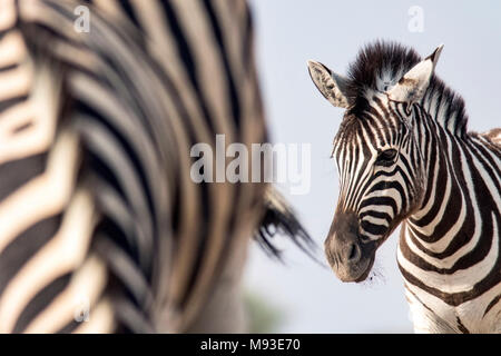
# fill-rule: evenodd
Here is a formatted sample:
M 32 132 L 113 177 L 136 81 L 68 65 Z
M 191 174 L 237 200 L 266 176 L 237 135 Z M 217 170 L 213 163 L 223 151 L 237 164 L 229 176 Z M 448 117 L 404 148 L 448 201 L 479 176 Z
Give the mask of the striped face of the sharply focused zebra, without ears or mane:
M 396 115 L 382 119 L 348 110 L 334 139 L 340 197 L 325 253 L 343 281 L 367 277 L 376 249 L 421 200 L 412 131 Z

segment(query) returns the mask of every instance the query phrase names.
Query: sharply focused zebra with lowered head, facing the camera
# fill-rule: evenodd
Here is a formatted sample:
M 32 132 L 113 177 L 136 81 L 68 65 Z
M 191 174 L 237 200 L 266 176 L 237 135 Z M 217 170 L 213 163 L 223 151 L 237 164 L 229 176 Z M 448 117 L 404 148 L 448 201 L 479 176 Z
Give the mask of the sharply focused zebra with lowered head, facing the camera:
M 501 333 L 501 130 L 470 132 L 463 99 L 390 41 L 365 46 L 347 77 L 308 61 L 344 117 L 332 157 L 340 195 L 326 258 L 365 280 L 402 222 L 397 264 L 416 333 Z

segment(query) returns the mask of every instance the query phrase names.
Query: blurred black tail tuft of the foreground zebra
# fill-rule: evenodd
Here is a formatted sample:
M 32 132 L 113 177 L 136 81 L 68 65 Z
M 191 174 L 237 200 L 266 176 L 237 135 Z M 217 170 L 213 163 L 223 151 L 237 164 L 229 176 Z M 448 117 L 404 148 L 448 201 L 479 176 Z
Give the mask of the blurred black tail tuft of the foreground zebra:
M 277 234 L 287 236 L 296 246 L 316 260 L 316 244 L 282 195 L 269 186 L 265 194 L 263 218 L 254 238 L 267 255 L 282 260 L 282 251 L 272 241 Z

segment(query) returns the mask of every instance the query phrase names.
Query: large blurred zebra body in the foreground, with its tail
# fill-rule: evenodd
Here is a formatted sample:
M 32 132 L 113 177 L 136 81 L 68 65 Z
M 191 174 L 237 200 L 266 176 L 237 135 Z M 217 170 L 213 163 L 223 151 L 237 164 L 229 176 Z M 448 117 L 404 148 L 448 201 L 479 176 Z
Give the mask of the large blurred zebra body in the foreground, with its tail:
M 311 243 L 267 184 L 189 176 L 267 141 L 253 41 L 243 0 L 0 1 L 0 333 L 243 330 L 253 233 Z

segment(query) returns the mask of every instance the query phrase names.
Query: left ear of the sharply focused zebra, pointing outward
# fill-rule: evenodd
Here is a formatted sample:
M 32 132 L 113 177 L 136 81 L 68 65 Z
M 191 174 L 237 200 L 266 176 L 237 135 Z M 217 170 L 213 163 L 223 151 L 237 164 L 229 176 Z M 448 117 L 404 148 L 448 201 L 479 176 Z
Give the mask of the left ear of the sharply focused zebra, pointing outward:
M 344 93 L 346 92 L 346 78 L 313 60 L 308 60 L 308 71 L 310 77 L 325 99 L 337 108 L 348 107 L 348 100 Z

